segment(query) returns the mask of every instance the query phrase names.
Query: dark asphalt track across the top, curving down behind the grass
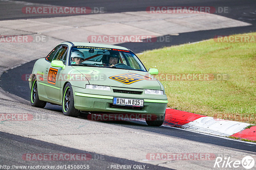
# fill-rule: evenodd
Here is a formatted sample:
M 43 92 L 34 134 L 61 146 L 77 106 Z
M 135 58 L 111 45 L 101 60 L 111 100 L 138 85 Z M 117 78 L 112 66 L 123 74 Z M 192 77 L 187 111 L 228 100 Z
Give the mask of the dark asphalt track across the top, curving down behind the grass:
M 28 2 L 28 3 L 26 3 Z M 37 5 L 31 5 L 29 3 L 37 3 Z M 122 43 L 119 46 L 124 46 L 132 49 L 133 52 L 139 53 L 145 50 L 157 49 L 164 46 L 180 45 L 189 42 L 201 41 L 204 39 L 212 39 L 216 35 L 231 35 L 238 33 L 253 32 L 256 30 L 256 2 L 253 0 L 131 0 L 131 1 L 118 1 L 118 0 L 98 0 L 98 1 L 50 1 L 50 0 L 27 0 L 27 1 L 8 1 L 0 0 L 0 20 L 10 19 L 28 19 L 28 18 L 51 18 L 51 17 L 63 17 L 72 16 L 75 14 L 24 14 L 21 12 L 21 8 L 25 6 L 68 6 L 79 7 L 86 6 L 90 8 L 104 8 L 104 13 L 116 13 L 116 12 L 128 12 L 128 11 L 146 11 L 148 6 L 213 6 L 216 9 L 218 7 L 228 7 L 227 13 L 214 13 L 224 17 L 244 21 L 251 23 L 251 26 L 224 28 L 207 31 L 196 31 L 188 33 L 180 33 L 178 36 L 171 36 L 170 42 L 157 42 L 157 43 Z M 79 15 L 79 14 L 76 14 Z M 93 15 L 93 14 L 88 14 Z M 60 18 L 61 19 L 61 18 Z M 169 35 L 166 35 L 169 36 Z

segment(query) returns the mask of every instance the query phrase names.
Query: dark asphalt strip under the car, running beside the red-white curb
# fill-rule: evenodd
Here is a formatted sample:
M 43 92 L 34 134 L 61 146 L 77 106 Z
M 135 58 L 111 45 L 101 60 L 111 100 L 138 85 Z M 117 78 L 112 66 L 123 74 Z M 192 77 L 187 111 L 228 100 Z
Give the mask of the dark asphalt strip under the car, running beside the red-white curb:
M 0 78 L 0 86 L 5 90 L 16 96 L 24 98 L 26 100 L 30 100 L 30 89 L 28 86 L 28 81 L 25 80 L 25 74 L 30 75 L 32 72 L 34 63 L 36 60 L 30 61 L 24 65 L 16 67 L 14 69 L 8 70 L 8 72 L 2 74 Z M 9 82 L 9 83 L 6 83 Z M 18 86 L 17 86 L 18 84 Z M 62 114 L 61 106 L 52 105 L 47 103 L 45 109 L 55 110 Z M 86 113 L 81 114 L 82 119 L 86 119 Z M 170 128 L 170 127 L 152 127 L 148 126 L 146 122 L 140 121 L 105 121 L 105 123 L 113 124 L 116 126 L 124 126 L 134 129 L 139 129 L 143 131 L 149 131 L 154 133 L 159 133 L 167 136 L 177 137 L 188 139 L 191 141 L 208 143 L 212 145 L 220 145 L 229 148 L 244 150 L 244 151 L 251 151 L 256 152 L 256 145 L 251 143 L 240 142 L 237 140 L 230 140 L 226 138 L 219 138 L 215 136 L 209 136 L 204 134 L 199 134 L 191 131 L 184 131 L 177 128 Z

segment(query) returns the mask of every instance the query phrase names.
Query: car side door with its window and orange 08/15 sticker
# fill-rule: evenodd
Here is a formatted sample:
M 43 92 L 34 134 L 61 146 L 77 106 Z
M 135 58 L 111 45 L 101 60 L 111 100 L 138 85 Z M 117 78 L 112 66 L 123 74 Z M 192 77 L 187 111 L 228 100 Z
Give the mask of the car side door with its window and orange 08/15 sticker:
M 64 69 L 61 67 L 52 67 L 53 60 L 61 60 L 64 64 L 66 64 L 66 58 L 68 54 L 68 46 L 60 45 L 56 47 L 56 52 L 51 60 L 45 67 L 45 73 L 47 74 L 47 81 L 45 88 L 45 93 L 47 98 L 53 99 L 56 101 L 61 101 L 61 78 Z M 49 57 L 50 58 L 50 57 Z

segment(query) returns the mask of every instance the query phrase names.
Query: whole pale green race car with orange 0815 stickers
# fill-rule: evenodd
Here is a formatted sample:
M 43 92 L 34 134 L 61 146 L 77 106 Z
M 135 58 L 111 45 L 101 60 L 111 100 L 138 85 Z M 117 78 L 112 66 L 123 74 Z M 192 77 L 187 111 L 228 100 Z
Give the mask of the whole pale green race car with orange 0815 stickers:
M 150 115 L 148 125 L 164 122 L 163 85 L 129 49 L 104 44 L 63 42 L 38 59 L 28 79 L 31 105 L 62 105 L 64 115 L 80 111 Z

